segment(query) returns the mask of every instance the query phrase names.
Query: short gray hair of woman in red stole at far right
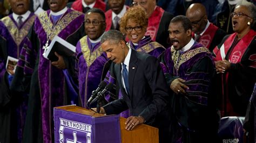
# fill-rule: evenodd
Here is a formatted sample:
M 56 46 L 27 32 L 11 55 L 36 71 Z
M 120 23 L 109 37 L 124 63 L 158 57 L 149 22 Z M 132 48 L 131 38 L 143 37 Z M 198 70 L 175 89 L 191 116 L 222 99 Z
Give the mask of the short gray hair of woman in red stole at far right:
M 256 20 L 256 6 L 251 3 L 251 2 L 247 2 L 247 1 L 241 1 L 238 2 L 237 5 L 235 5 L 235 8 L 237 8 L 237 6 L 245 6 L 248 11 L 250 12 L 250 17 L 252 18 L 252 23 L 251 23 L 251 28 L 254 26 L 255 24 L 255 20 Z

